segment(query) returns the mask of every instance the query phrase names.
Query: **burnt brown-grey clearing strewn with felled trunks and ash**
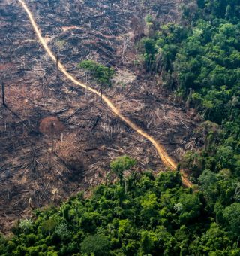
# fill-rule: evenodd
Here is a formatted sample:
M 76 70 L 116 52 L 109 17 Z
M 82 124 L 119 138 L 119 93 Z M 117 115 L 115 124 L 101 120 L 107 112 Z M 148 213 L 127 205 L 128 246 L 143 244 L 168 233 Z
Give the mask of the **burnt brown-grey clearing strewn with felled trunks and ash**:
M 153 1 L 154 2 L 154 1 Z M 145 16 L 160 23 L 178 20 L 178 1 L 26 1 L 49 47 L 68 72 L 97 87 L 77 69 L 83 59 L 113 66 L 105 90 L 123 114 L 154 136 L 179 160 L 196 147 L 194 114 L 164 93 L 159 78 L 139 65 L 136 41 L 148 33 Z M 71 84 L 38 43 L 18 1 L 0 3 L 0 75 L 7 108 L 0 107 L 0 230 L 30 215 L 31 209 L 113 180 L 109 163 L 121 154 L 137 169 L 164 169 L 150 142 L 130 130 L 97 96 Z M 45 117 L 58 117 L 63 136 L 40 133 Z M 113 175 L 112 175 L 113 177 Z

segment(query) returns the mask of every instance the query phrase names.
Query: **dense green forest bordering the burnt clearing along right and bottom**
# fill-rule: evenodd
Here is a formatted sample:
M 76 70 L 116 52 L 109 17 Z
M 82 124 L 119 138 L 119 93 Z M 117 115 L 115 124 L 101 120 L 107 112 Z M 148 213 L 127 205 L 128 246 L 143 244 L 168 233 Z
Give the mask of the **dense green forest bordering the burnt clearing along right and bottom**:
M 198 0 L 179 24 L 146 23 L 146 72 L 202 116 L 204 146 L 181 160 L 196 189 L 179 172 L 139 173 L 119 157 L 117 183 L 36 210 L 1 236 L 1 255 L 240 255 L 240 2 Z

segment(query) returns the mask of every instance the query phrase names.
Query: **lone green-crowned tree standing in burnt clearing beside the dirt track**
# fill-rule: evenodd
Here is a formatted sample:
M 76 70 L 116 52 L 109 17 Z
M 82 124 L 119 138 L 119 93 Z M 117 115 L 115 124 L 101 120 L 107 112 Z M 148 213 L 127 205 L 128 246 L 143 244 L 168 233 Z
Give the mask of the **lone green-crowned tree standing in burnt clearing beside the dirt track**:
M 107 66 L 104 66 L 93 60 L 83 60 L 82 62 L 80 62 L 78 67 L 80 69 L 86 69 L 87 71 L 89 71 L 90 75 L 92 75 L 92 78 L 94 78 L 95 81 L 101 85 L 100 102 L 102 102 L 104 86 L 111 85 L 111 79 L 115 74 L 114 69 L 108 68 Z

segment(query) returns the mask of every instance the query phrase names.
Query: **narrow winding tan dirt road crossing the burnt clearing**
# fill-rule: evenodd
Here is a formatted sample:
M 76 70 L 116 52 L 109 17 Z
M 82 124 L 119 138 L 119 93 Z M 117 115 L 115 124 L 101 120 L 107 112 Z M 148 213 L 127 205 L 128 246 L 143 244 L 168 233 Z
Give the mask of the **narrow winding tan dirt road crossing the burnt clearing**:
M 31 14 L 31 11 L 28 9 L 28 6 L 26 5 L 26 3 L 23 0 L 19 0 L 19 2 L 21 3 L 21 5 L 23 6 L 23 9 L 26 11 L 26 13 L 28 14 L 28 18 L 31 22 L 31 26 L 33 27 L 34 31 L 37 34 L 37 38 L 40 41 L 40 44 L 42 44 L 43 48 L 46 50 L 46 53 L 48 53 L 48 55 L 50 56 L 50 58 L 56 62 L 56 58 L 55 55 L 52 53 L 52 51 L 49 49 L 49 47 L 46 44 L 46 41 L 44 40 L 44 38 L 42 37 L 42 35 L 40 34 L 40 30 L 37 28 L 37 24 L 34 21 L 34 17 Z M 65 69 L 65 67 L 62 65 L 61 62 L 58 62 L 58 69 L 62 71 L 62 73 L 69 79 L 71 80 L 74 84 L 77 84 L 80 87 L 83 87 L 85 89 L 87 89 L 86 84 L 81 83 L 80 81 L 77 81 L 76 78 L 74 78 L 71 74 L 69 74 L 67 72 L 67 70 Z M 101 96 L 101 93 L 98 92 L 98 90 L 93 89 L 92 87 L 89 87 L 89 90 L 92 93 L 97 94 L 98 96 Z M 124 117 L 124 115 L 121 114 L 121 112 L 115 107 L 115 105 L 113 105 L 113 103 L 110 101 L 110 99 L 107 98 L 107 96 L 103 95 L 102 96 L 103 101 L 111 108 L 111 110 L 113 111 L 113 113 L 118 116 L 122 121 L 124 121 L 124 123 L 127 123 L 128 126 L 130 126 L 131 129 L 135 130 L 136 133 L 139 133 L 141 136 L 145 137 L 145 139 L 148 139 L 149 142 L 151 142 L 154 147 L 157 149 L 157 154 L 159 155 L 160 159 L 162 160 L 163 164 L 168 167 L 169 169 L 175 170 L 177 168 L 176 163 L 174 162 L 174 160 L 172 160 L 171 157 L 169 157 L 169 155 L 166 153 L 165 149 L 163 148 L 163 145 L 160 145 L 152 136 L 149 136 L 148 133 L 145 133 L 144 130 L 142 130 L 141 128 L 139 128 L 139 126 L 136 126 L 135 123 L 133 123 L 130 119 L 128 119 L 127 117 Z M 184 184 L 184 186 L 186 187 L 192 187 L 193 184 L 188 180 L 187 175 L 184 174 L 183 171 L 181 171 L 182 173 L 182 182 Z

